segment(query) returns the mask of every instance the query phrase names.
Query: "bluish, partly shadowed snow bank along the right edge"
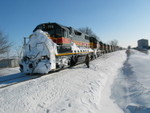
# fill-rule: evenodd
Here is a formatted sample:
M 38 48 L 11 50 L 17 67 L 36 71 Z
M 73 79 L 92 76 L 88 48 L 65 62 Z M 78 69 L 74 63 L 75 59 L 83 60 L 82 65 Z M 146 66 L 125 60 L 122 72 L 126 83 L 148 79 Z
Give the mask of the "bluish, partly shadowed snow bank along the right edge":
M 131 50 L 112 88 L 125 113 L 150 113 L 150 55 Z

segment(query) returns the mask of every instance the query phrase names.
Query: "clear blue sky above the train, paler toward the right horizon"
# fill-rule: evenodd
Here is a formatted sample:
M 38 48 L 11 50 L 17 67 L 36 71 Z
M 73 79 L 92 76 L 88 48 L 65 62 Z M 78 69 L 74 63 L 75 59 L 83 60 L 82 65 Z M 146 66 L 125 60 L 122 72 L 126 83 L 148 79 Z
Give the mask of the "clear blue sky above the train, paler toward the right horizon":
M 150 0 L 0 0 L 0 30 L 14 45 L 46 22 L 89 27 L 104 43 L 133 47 L 150 41 Z

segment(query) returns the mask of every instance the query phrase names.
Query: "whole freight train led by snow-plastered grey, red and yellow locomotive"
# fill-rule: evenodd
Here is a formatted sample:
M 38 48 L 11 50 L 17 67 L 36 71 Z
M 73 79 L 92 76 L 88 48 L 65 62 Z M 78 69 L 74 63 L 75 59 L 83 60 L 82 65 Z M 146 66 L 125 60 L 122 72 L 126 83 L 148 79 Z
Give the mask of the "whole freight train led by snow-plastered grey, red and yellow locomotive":
M 73 27 L 43 23 L 35 27 L 24 44 L 20 71 L 26 74 L 47 74 L 84 62 L 86 55 L 93 60 L 119 49 Z

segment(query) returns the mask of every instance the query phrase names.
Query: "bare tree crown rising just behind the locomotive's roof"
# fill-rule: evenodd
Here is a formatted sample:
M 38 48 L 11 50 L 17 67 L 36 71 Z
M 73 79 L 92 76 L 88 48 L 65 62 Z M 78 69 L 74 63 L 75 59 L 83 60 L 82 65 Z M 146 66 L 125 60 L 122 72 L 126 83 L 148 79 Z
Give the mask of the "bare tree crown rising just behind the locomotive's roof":
M 89 36 L 93 36 L 93 37 L 96 37 L 97 39 L 99 39 L 99 37 L 89 27 L 82 27 L 82 28 L 79 28 L 78 30 L 82 33 L 85 33 Z

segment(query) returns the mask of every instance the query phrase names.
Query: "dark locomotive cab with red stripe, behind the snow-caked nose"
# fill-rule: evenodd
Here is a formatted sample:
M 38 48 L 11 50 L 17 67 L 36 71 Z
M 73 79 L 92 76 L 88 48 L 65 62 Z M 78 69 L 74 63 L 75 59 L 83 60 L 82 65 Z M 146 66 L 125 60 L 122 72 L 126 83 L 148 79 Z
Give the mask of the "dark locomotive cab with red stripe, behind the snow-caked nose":
M 71 39 L 69 38 L 69 29 L 56 23 L 46 23 L 38 25 L 34 30 L 41 29 L 47 32 L 58 46 L 58 53 L 71 52 Z

